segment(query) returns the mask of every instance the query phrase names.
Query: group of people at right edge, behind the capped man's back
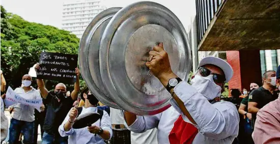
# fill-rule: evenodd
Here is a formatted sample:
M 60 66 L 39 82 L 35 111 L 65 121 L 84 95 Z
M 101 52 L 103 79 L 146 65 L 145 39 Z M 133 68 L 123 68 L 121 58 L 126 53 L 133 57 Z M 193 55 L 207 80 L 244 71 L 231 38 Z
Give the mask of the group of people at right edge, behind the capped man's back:
M 279 85 L 280 66 L 277 72 L 266 71 L 262 84 L 251 82 L 249 92 L 231 89 L 232 98 L 225 100 L 236 105 L 240 118 L 234 143 L 280 143 Z

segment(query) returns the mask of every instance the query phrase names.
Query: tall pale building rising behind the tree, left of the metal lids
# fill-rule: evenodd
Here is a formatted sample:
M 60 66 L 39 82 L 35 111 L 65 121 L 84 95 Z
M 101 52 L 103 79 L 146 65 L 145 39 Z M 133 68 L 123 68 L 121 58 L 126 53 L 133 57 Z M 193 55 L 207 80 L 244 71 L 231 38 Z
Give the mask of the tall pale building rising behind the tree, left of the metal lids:
M 62 29 L 81 38 L 92 19 L 105 10 L 102 0 L 66 1 L 63 3 Z

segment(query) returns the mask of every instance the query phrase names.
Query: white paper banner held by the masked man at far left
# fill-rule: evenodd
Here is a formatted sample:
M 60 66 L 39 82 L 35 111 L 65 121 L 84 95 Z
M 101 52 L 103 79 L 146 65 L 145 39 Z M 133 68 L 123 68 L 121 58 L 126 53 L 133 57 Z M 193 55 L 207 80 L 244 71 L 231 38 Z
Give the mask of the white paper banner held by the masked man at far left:
M 21 96 L 17 95 L 11 87 L 9 87 L 6 92 L 5 100 L 10 101 L 9 103 L 12 103 L 12 102 L 21 103 L 23 105 L 32 106 L 32 107 L 36 108 L 39 112 L 41 112 L 40 107 L 42 106 L 42 103 L 43 103 L 42 98 L 41 99 L 24 99 Z

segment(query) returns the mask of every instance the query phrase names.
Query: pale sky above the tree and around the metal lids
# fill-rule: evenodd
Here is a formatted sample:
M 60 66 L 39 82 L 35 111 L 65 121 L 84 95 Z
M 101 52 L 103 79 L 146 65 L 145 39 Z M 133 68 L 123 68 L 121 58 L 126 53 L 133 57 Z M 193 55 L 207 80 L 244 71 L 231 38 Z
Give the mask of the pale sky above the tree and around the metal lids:
M 101 4 L 106 8 L 125 7 L 134 2 L 139 2 L 139 0 L 101 1 Z M 66 0 L 1 0 L 1 5 L 8 12 L 17 14 L 27 21 L 61 28 L 63 2 L 66 2 Z M 180 19 L 185 29 L 188 30 L 191 17 L 195 15 L 195 0 L 152 0 L 152 2 L 169 8 Z

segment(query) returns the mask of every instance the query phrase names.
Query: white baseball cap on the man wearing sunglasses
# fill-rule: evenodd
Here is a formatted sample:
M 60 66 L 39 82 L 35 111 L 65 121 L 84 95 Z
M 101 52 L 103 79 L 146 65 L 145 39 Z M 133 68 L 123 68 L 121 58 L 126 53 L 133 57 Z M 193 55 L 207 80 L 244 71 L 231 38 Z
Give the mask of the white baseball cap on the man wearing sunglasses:
M 233 69 L 228 62 L 215 56 L 207 56 L 200 61 L 198 68 L 208 64 L 215 65 L 221 68 L 223 73 L 225 73 L 226 82 L 229 82 L 231 80 L 233 76 Z

